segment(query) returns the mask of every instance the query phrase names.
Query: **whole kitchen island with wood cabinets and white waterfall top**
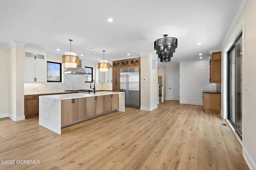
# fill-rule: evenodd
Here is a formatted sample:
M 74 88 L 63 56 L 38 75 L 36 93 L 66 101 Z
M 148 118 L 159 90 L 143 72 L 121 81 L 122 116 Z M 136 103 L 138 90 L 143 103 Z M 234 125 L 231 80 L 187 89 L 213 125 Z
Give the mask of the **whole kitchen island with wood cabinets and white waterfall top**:
M 39 96 L 39 125 L 61 134 L 61 128 L 113 111 L 124 111 L 124 92 L 101 91 Z

